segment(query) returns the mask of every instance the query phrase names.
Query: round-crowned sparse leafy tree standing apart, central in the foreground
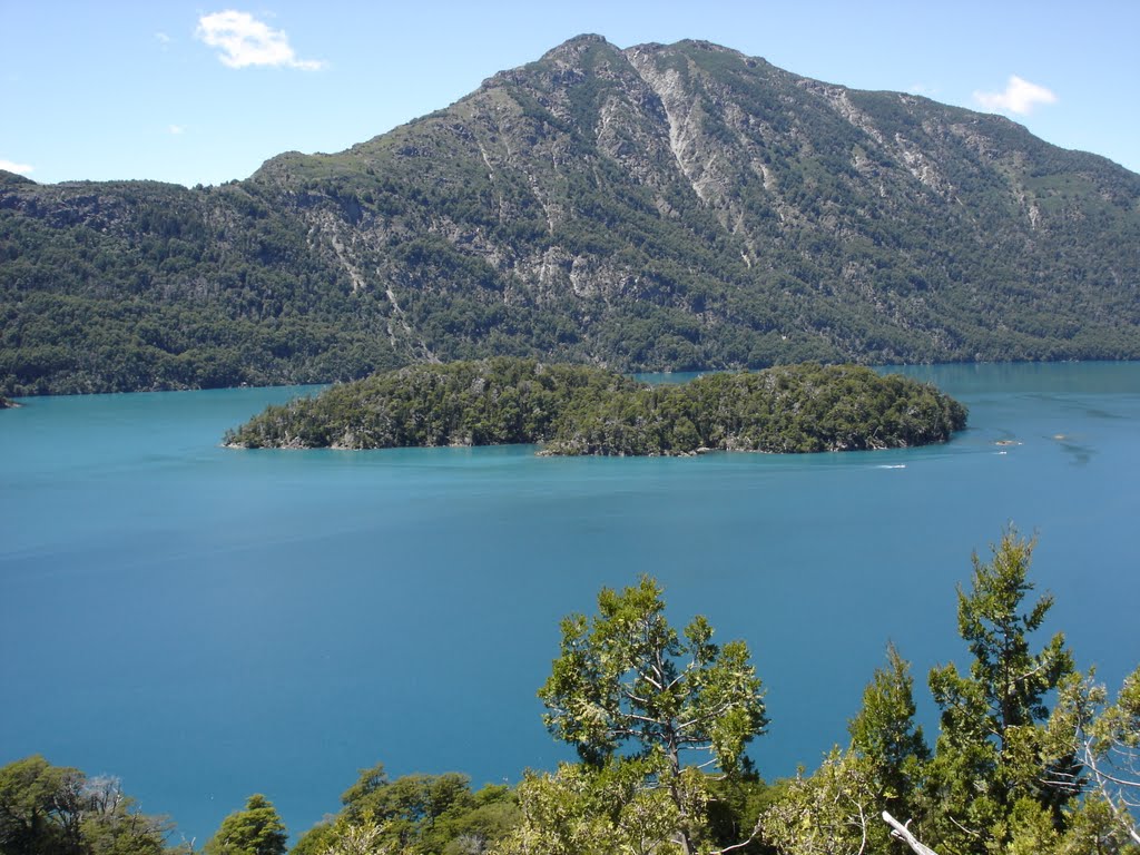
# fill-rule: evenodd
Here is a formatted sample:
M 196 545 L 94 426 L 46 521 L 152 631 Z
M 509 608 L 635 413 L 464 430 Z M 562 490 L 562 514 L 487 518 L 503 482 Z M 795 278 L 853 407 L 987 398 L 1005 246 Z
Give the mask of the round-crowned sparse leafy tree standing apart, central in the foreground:
M 598 614 L 562 621 L 561 656 L 538 695 L 552 734 L 595 769 L 636 759 L 677 813 L 677 842 L 694 852 L 705 795 L 700 771 L 746 768 L 746 744 L 767 725 L 760 681 L 741 641 L 712 643 L 698 616 L 679 634 L 648 576 L 622 593 L 603 588 Z M 686 764 L 686 756 L 698 762 Z

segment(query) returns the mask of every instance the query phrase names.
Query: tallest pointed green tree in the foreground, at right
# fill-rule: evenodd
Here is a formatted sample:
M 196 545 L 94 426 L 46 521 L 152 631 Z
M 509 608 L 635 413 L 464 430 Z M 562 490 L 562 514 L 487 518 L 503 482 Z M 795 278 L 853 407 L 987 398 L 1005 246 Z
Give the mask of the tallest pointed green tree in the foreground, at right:
M 940 821 L 937 838 L 948 841 L 939 848 L 950 852 L 1008 841 L 1020 799 L 1049 808 L 1059 826 L 1060 808 L 1077 791 L 1075 758 L 1045 756 L 1045 698 L 1073 673 L 1073 658 L 1059 633 L 1041 651 L 1031 650 L 1031 636 L 1053 604 L 1045 594 L 1027 610 L 1023 605 L 1034 587 L 1027 579 L 1034 546 L 1010 527 L 991 546 L 990 562 L 974 555 L 972 588 L 958 592 L 969 671 L 960 674 L 954 665 L 930 671 L 942 720 L 929 795 Z

